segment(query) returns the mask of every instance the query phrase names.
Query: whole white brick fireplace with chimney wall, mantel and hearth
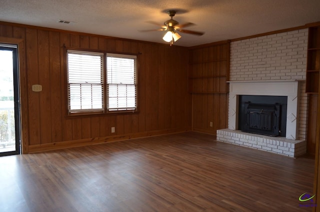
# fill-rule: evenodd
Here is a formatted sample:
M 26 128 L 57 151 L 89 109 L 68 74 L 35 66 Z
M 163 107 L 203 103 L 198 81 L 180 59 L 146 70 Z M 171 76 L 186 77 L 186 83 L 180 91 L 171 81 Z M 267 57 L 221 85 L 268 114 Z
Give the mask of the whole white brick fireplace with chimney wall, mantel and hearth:
M 217 140 L 291 157 L 306 152 L 306 48 L 307 29 L 231 42 L 228 128 Z M 287 96 L 285 137 L 238 130 L 239 95 Z

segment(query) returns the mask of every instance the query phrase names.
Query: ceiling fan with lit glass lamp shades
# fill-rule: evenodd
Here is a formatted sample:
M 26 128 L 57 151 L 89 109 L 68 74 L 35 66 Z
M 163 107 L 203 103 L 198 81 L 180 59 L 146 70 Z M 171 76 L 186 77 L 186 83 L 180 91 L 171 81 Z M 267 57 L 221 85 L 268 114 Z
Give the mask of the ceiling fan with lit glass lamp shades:
M 200 31 L 192 31 L 192 30 L 186 30 L 183 29 L 184 27 L 188 27 L 191 25 L 194 25 L 194 23 L 191 22 L 186 22 L 183 24 L 179 24 L 178 21 L 174 20 L 172 17 L 175 15 L 176 11 L 175 10 L 169 10 L 167 11 L 167 13 L 169 14 L 169 16 L 171 17 L 170 19 L 166 20 L 164 22 L 164 25 L 160 25 L 154 21 L 147 21 L 148 23 L 152 23 L 155 25 L 160 26 L 161 28 L 159 29 L 150 29 L 150 30 L 140 30 L 142 32 L 146 32 L 146 31 L 167 31 L 164 36 L 162 37 L 162 39 L 166 42 L 170 42 L 170 45 L 173 44 L 173 41 L 177 41 L 181 35 L 177 33 L 177 31 L 182 32 L 182 33 L 188 33 L 188 34 L 194 34 L 194 35 L 203 35 L 204 32 L 200 32 Z

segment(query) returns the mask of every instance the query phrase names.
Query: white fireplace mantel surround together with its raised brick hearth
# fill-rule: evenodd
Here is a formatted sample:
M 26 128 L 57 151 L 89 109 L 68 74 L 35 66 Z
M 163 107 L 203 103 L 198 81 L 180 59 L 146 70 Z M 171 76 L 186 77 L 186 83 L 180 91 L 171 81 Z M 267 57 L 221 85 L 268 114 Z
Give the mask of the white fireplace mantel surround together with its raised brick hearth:
M 305 141 L 296 139 L 299 90 L 297 80 L 230 81 L 229 84 L 228 129 L 217 130 L 217 140 L 287 156 L 298 156 L 305 153 Z M 285 137 L 270 137 L 237 130 L 239 95 L 286 96 Z

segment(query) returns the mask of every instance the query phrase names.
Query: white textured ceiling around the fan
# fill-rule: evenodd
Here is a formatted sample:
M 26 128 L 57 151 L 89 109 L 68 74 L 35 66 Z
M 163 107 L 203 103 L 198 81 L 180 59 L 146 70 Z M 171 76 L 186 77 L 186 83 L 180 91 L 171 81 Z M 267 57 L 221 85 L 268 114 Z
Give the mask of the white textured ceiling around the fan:
M 165 43 L 157 29 L 173 19 L 204 31 L 180 33 L 175 45 L 193 46 L 320 21 L 320 0 L 0 0 L 0 21 Z M 68 20 L 71 23 L 59 23 Z

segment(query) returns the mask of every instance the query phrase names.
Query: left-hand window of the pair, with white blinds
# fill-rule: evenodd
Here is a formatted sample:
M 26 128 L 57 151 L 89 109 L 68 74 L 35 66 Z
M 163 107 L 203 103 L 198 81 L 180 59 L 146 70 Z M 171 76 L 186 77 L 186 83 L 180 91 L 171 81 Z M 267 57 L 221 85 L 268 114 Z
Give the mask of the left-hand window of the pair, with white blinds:
M 103 111 L 103 53 L 67 50 L 68 110 Z

